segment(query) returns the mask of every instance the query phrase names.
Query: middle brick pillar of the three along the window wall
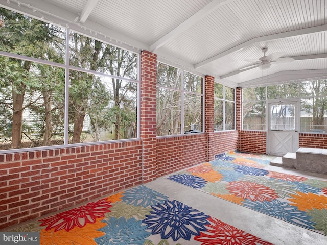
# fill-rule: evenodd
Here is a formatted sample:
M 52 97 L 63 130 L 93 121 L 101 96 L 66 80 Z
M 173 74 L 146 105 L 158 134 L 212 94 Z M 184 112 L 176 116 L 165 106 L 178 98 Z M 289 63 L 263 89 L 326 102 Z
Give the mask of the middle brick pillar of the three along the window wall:
M 215 159 L 214 149 L 214 112 L 215 112 L 215 78 L 212 76 L 205 76 L 205 133 L 207 134 L 207 161 Z

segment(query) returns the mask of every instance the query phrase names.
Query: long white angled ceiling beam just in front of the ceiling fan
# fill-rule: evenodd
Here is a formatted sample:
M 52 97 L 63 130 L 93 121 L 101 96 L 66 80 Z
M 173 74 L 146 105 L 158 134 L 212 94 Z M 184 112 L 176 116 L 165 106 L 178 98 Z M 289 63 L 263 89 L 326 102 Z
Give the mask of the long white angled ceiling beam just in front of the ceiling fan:
M 277 33 L 277 34 L 272 34 L 272 35 L 268 35 L 268 36 L 255 37 L 255 38 L 248 40 L 246 42 L 243 42 L 235 47 L 232 47 L 229 50 L 226 50 L 218 55 L 215 55 L 207 60 L 197 63 L 194 65 L 194 67 L 196 69 L 198 69 L 203 65 L 206 65 L 206 64 L 213 62 L 215 60 L 218 60 L 226 55 L 229 55 L 231 53 L 242 50 L 242 48 L 245 48 L 247 46 L 250 46 L 250 45 L 253 45 L 253 44 L 256 44 L 259 42 L 267 42 L 267 41 L 272 41 L 272 40 L 277 40 L 277 39 L 291 38 L 291 37 L 295 37 L 295 36 L 307 35 L 307 34 L 324 32 L 324 31 L 327 31 L 327 24 L 323 24 L 322 26 L 318 26 L 318 27 L 309 27 L 309 28 L 290 31 L 290 32 L 283 32 L 283 33 Z

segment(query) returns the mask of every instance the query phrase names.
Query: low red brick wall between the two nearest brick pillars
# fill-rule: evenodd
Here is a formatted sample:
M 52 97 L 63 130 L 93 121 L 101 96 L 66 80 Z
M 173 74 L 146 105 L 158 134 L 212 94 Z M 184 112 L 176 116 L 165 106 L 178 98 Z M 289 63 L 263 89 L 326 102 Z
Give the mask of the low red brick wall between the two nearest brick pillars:
M 157 138 L 157 177 L 206 161 L 206 134 Z

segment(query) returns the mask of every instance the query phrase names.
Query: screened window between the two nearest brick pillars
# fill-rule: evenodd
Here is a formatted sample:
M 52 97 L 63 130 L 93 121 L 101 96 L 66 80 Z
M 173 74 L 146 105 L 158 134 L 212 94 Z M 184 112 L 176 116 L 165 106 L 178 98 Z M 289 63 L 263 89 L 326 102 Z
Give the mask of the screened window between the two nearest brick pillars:
M 203 131 L 203 78 L 157 64 L 157 136 Z

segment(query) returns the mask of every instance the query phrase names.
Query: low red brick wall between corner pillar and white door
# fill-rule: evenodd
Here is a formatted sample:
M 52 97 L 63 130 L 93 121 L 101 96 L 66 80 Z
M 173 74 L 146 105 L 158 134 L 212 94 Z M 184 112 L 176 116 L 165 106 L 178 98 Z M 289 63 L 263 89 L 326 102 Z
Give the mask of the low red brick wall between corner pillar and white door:
M 266 131 L 242 130 L 239 151 L 266 154 Z

